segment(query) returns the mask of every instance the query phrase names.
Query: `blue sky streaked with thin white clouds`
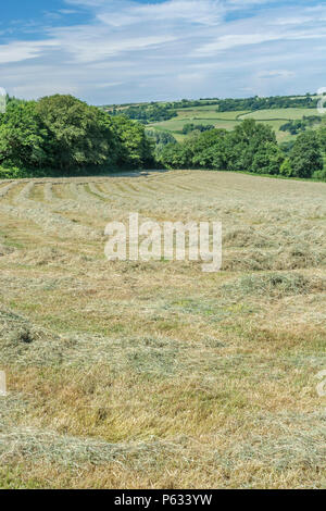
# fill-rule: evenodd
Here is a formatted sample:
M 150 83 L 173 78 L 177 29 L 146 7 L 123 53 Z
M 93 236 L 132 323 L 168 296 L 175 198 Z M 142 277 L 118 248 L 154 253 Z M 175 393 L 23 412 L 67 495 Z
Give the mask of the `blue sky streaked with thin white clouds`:
M 319 0 L 10 0 L 0 87 L 92 104 L 315 92 L 326 87 Z

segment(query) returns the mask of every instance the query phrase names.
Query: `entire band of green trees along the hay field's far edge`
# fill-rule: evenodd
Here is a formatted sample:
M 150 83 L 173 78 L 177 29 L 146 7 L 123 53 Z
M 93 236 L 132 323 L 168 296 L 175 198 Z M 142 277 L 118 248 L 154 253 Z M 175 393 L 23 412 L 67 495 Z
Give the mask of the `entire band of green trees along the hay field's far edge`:
M 279 146 L 252 119 L 234 130 L 189 132 L 183 142 L 126 115 L 109 115 L 72 96 L 11 99 L 0 114 L 0 177 L 72 175 L 122 169 L 212 169 L 326 178 L 326 125 Z

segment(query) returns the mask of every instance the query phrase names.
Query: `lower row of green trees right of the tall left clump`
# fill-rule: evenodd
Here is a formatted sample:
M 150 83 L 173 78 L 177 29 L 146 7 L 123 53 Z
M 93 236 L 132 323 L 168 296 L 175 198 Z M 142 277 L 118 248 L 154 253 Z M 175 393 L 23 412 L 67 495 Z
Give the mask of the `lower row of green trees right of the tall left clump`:
M 325 149 L 326 128 L 300 134 L 286 152 L 268 125 L 248 119 L 231 132 L 193 132 L 184 142 L 164 146 L 159 158 L 168 169 L 243 171 L 325 179 L 322 152 Z

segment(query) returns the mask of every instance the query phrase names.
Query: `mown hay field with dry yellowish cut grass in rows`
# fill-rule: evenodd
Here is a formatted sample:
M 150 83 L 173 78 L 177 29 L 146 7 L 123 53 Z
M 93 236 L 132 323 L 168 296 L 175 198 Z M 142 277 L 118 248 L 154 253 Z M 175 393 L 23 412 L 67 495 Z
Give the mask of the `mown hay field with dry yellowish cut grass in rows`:
M 0 183 L 1 488 L 325 488 L 326 185 Z M 105 224 L 221 220 L 224 263 L 108 262 Z

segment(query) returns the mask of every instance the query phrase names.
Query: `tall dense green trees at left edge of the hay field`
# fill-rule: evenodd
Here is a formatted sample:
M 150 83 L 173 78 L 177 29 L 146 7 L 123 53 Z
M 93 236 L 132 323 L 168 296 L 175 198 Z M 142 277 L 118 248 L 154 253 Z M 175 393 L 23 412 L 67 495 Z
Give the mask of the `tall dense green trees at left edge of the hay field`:
M 139 169 L 151 165 L 152 158 L 141 124 L 72 96 L 11 100 L 0 114 L 1 177 Z

